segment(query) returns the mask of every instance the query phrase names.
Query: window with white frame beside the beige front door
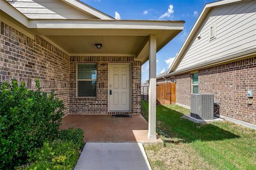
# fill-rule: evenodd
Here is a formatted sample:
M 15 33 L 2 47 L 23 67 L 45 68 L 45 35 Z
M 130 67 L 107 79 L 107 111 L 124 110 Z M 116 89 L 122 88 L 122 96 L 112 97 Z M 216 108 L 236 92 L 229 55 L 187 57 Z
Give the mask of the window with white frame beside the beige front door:
M 97 64 L 77 64 L 77 97 L 96 97 Z

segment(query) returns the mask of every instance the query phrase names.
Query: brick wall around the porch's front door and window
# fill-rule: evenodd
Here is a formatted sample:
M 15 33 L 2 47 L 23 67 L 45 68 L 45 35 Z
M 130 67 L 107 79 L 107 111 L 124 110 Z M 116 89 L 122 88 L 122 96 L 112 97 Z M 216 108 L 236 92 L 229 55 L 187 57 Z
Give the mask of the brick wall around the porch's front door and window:
M 55 91 L 68 113 L 108 113 L 108 63 L 127 62 L 132 65 L 132 114 L 140 114 L 141 62 L 133 57 L 68 56 L 45 39 L 31 39 L 1 22 L 0 81 L 16 78 L 35 88 L 35 79 L 42 90 Z M 76 97 L 76 63 L 97 63 L 97 98 Z M 87 106 L 85 104 L 88 104 Z

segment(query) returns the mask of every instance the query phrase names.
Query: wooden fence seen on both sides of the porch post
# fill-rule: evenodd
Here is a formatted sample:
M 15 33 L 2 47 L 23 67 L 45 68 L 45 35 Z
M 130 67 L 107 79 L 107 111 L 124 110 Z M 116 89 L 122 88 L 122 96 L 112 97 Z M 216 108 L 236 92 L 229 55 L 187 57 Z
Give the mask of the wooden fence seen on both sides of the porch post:
M 141 98 L 148 101 L 148 86 L 141 86 Z M 158 104 L 168 105 L 176 102 L 175 83 L 161 83 L 156 86 Z

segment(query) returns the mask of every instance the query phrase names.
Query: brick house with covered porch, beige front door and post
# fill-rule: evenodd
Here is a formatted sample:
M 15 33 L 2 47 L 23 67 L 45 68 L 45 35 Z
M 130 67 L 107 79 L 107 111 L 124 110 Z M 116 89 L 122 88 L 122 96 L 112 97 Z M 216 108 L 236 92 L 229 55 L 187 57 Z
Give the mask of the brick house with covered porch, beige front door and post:
M 39 79 L 65 102 L 66 115 L 140 114 L 141 65 L 149 60 L 156 137 L 156 52 L 183 21 L 115 20 L 75 0 L 0 0 L 0 14 L 0 81 L 33 89 Z

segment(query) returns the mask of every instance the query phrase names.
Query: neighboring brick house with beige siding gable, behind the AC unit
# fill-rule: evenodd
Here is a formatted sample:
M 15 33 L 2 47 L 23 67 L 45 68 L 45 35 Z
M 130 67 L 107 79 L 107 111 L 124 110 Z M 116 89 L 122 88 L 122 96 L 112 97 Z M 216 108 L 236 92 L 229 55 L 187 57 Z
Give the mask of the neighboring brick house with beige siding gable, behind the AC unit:
M 220 116 L 255 125 L 255 54 L 256 1 L 206 4 L 164 77 L 176 82 L 178 104 L 189 107 L 191 93 L 214 94 Z

